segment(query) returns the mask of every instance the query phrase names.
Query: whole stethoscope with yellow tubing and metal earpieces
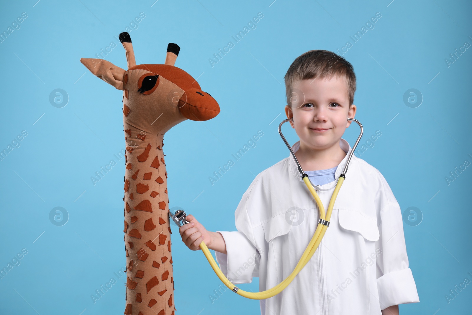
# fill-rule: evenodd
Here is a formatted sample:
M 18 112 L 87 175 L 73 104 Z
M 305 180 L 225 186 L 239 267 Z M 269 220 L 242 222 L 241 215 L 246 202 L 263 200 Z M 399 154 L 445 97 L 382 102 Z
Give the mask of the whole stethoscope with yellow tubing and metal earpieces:
M 280 293 L 283 289 L 287 288 L 287 286 L 292 282 L 292 280 L 295 278 L 295 276 L 300 272 L 303 267 L 308 263 L 308 261 L 312 258 L 313 254 L 315 253 L 316 249 L 320 245 L 321 239 L 323 239 L 324 234 L 326 230 L 329 227 L 329 219 L 331 219 L 331 213 L 333 211 L 334 207 L 334 202 L 336 201 L 337 193 L 339 192 L 339 189 L 343 185 L 344 180 L 346 179 L 346 172 L 347 168 L 349 166 L 349 162 L 351 161 L 351 158 L 353 156 L 353 153 L 355 152 L 355 148 L 359 144 L 359 141 L 361 140 L 362 133 L 363 133 L 363 128 L 362 124 L 359 122 L 359 120 L 354 119 L 354 118 L 348 118 L 347 120 L 352 120 L 355 121 L 357 124 L 359 124 L 359 127 L 361 127 L 361 133 L 359 137 L 357 138 L 357 141 L 354 144 L 354 147 L 351 150 L 351 153 L 349 153 L 349 156 L 347 158 L 346 165 L 344 166 L 344 170 L 342 174 L 339 175 L 339 178 L 337 179 L 337 184 L 336 187 L 334 188 L 333 195 L 331 196 L 331 200 L 329 201 L 329 206 L 328 206 L 328 211 L 325 213 L 324 206 L 321 203 L 321 199 L 316 193 L 315 189 L 318 189 L 318 187 L 315 187 L 311 180 L 309 179 L 308 175 L 303 171 L 302 167 L 300 166 L 300 163 L 298 162 L 297 158 L 295 157 L 295 153 L 292 150 L 292 147 L 288 144 L 287 140 L 285 139 L 284 135 L 282 134 L 281 127 L 284 123 L 287 121 L 293 121 L 293 118 L 288 118 L 283 120 L 279 125 L 278 125 L 278 133 L 284 140 L 285 144 L 287 145 L 288 150 L 290 150 L 290 153 L 292 154 L 292 157 L 294 158 L 298 171 L 300 172 L 300 175 L 302 176 L 303 182 L 305 183 L 306 187 L 308 187 L 308 190 L 312 193 L 313 198 L 316 201 L 316 204 L 318 204 L 318 208 L 320 210 L 320 220 L 318 221 L 318 226 L 315 230 L 315 233 L 313 234 L 313 237 L 306 247 L 305 251 L 303 252 L 302 257 L 298 261 L 298 264 L 295 266 L 294 271 L 287 277 L 285 278 L 282 282 L 280 282 L 278 285 L 275 287 L 261 291 L 261 292 L 248 292 L 239 289 L 236 287 L 231 281 L 228 280 L 228 278 L 223 274 L 223 272 L 219 269 L 217 263 L 215 262 L 215 259 L 213 258 L 213 255 L 211 255 L 210 250 L 208 247 L 205 245 L 205 243 L 202 241 L 200 243 L 200 248 L 203 251 L 203 254 L 206 256 L 208 262 L 211 265 L 211 268 L 215 271 L 217 274 L 219 280 L 221 280 L 229 289 L 232 291 L 236 292 L 237 294 L 243 296 L 244 298 L 251 298 L 255 300 L 260 300 L 260 299 L 265 299 L 265 298 L 271 298 L 278 293 Z M 181 227 L 184 224 L 190 223 L 186 220 L 186 213 L 182 209 L 178 209 L 175 213 L 172 213 L 169 210 L 169 216 L 170 218 L 176 223 L 178 227 Z

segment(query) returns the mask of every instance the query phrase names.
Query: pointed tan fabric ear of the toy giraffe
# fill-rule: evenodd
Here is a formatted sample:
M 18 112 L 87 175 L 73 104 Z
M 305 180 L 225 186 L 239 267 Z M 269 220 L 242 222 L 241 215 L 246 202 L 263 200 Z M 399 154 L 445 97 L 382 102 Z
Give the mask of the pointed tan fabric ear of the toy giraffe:
M 118 90 L 124 90 L 123 76 L 126 70 L 115 66 L 110 61 L 96 58 L 81 58 L 80 62 L 84 64 L 95 76 L 103 81 L 113 85 Z

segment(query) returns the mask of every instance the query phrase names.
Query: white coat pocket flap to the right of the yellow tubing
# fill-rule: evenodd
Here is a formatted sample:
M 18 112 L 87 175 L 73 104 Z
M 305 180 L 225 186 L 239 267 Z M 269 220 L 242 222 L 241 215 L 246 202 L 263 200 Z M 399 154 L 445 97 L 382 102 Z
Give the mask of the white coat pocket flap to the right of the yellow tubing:
M 370 241 L 379 239 L 379 228 L 375 218 L 369 218 L 358 211 L 346 209 L 339 209 L 338 214 L 341 228 L 355 231 Z

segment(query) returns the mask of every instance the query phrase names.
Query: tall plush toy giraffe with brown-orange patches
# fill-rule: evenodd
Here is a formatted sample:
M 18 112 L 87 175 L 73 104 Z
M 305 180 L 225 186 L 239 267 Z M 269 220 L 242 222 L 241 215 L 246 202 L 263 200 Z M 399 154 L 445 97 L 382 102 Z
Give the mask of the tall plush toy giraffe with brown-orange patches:
M 208 120 L 218 103 L 174 66 L 180 47 L 169 43 L 164 64 L 136 65 L 128 33 L 119 34 L 128 70 L 81 58 L 95 76 L 123 90 L 125 131 L 125 249 L 127 315 L 174 315 L 164 134 L 185 119 Z

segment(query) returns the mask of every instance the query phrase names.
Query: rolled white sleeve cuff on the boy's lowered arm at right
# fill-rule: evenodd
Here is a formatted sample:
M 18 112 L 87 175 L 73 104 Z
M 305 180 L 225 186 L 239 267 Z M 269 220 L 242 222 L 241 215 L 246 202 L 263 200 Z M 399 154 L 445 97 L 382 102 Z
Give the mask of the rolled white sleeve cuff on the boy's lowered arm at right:
M 420 298 L 410 268 L 388 272 L 377 279 L 380 308 L 418 303 Z

